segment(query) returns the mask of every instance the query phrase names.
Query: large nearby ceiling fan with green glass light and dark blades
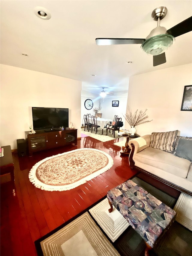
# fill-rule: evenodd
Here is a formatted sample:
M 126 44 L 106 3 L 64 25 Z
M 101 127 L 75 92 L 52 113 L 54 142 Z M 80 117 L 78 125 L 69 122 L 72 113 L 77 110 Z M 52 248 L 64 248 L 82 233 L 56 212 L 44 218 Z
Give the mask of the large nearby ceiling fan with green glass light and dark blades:
M 153 55 L 153 66 L 166 62 L 165 51 L 173 44 L 175 37 L 192 31 L 192 16 L 182 21 L 171 29 L 160 26 L 160 21 L 166 16 L 167 8 L 158 7 L 152 11 L 153 20 L 157 21 L 157 27 L 143 38 L 96 38 L 97 45 L 112 44 L 141 44 L 141 49 L 146 54 Z

